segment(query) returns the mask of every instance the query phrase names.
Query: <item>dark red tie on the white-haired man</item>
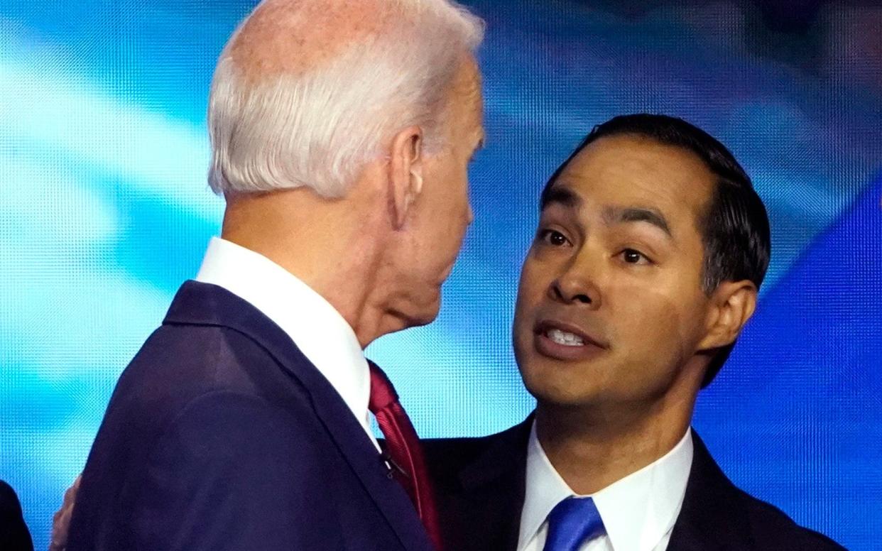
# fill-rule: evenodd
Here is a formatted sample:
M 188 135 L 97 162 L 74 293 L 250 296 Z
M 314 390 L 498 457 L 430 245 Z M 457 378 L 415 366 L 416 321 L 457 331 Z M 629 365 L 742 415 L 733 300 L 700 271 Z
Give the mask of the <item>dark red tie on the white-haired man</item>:
M 382 369 L 373 361 L 370 366 L 370 413 L 377 417 L 377 425 L 383 431 L 386 451 L 392 459 L 393 472 L 401 486 L 404 487 L 410 501 L 414 502 L 416 512 L 422 525 L 429 532 L 429 537 L 437 549 L 441 549 L 441 529 L 438 525 L 437 508 L 432 496 L 429 471 L 426 460 L 422 457 L 420 439 L 416 436 L 414 425 L 411 424 L 404 408 L 398 401 L 398 394 L 392 382 L 385 376 Z

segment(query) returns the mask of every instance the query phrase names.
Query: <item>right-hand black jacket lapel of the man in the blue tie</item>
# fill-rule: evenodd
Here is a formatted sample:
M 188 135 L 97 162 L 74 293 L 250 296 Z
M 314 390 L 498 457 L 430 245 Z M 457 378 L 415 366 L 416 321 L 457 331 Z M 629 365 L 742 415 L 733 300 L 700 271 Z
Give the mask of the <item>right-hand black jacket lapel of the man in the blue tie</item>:
M 669 551 L 751 549 L 750 525 L 739 490 L 722 473 L 694 429 L 692 444 L 689 481 Z

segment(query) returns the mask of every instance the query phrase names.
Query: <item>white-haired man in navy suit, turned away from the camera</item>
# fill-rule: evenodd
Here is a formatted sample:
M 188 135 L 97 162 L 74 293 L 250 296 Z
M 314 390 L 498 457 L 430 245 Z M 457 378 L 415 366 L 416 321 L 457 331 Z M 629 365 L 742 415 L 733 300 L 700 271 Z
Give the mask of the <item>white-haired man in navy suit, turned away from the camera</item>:
M 69 551 L 438 545 L 363 348 L 437 316 L 472 219 L 481 40 L 447 0 L 265 0 L 236 30 L 209 107 L 221 238 L 116 385 Z

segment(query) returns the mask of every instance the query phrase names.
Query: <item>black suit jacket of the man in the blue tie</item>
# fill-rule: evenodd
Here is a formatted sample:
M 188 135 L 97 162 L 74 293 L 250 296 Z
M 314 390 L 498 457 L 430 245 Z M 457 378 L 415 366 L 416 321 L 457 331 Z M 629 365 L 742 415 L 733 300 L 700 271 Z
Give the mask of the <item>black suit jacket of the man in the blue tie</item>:
M 517 547 L 531 422 L 532 416 L 482 438 L 425 441 L 449 549 L 514 551 Z M 699 436 L 694 431 L 692 435 L 691 472 L 669 551 L 842 548 L 736 488 Z

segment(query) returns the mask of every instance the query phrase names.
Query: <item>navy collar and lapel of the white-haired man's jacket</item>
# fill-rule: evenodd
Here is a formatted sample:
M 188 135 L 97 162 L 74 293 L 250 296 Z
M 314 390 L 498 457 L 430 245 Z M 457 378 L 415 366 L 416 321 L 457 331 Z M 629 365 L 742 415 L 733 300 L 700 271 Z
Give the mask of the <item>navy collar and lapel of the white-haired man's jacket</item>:
M 288 334 L 258 309 L 222 287 L 188 281 L 172 302 L 166 323 L 221 325 L 255 340 L 310 394 L 311 404 L 340 454 L 361 480 L 406 549 L 430 549 L 428 536 L 400 484 L 385 465 L 362 425 L 331 383 L 300 352 Z

